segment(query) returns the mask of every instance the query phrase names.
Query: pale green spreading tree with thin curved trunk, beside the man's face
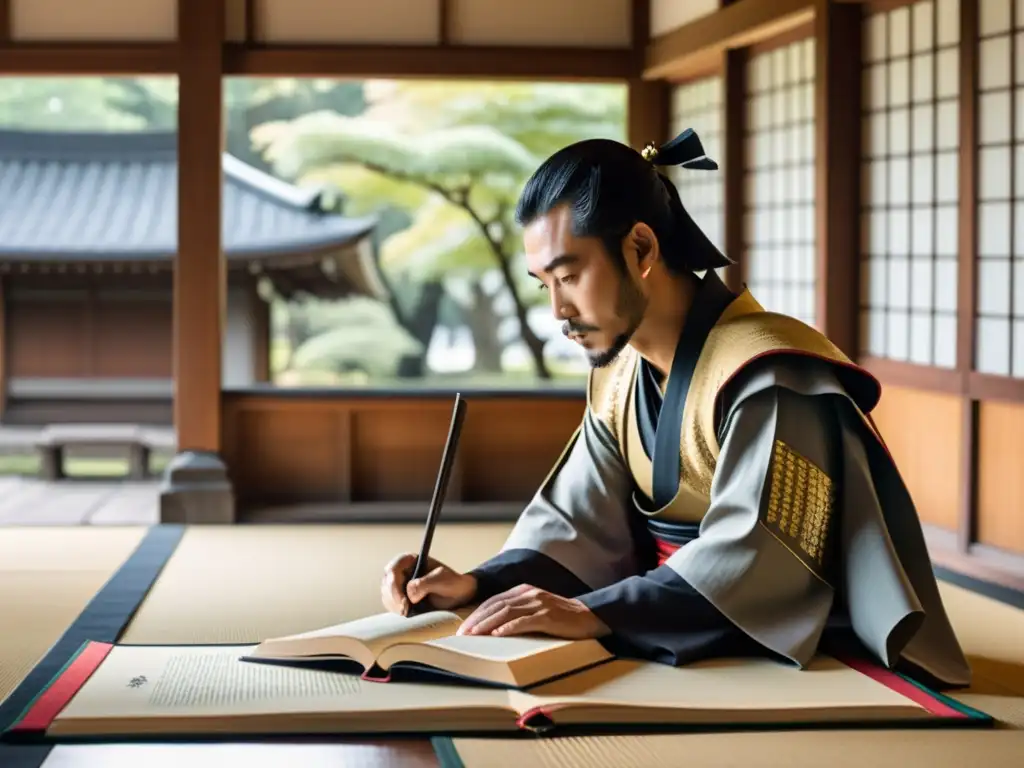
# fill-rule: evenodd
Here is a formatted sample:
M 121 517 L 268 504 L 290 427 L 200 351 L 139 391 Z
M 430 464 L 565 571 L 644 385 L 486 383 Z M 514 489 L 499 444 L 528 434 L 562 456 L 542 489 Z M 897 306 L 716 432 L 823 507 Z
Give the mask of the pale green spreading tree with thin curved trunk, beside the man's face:
M 327 169 L 355 165 L 382 177 L 381 183 L 397 182 L 433 196 L 416 201 L 420 205 L 413 225 L 389 239 L 385 258 L 403 254 L 407 266 L 424 276 L 452 276 L 460 270 L 479 274 L 484 264 L 497 267 L 537 373 L 550 378 L 544 342 L 526 321 L 512 272 L 518 239 L 511 213 L 522 179 L 537 165 L 522 144 L 489 126 L 412 134 L 329 112 L 267 124 L 253 136 L 275 171 L 289 178 L 323 178 Z M 474 296 L 482 298 L 479 291 Z

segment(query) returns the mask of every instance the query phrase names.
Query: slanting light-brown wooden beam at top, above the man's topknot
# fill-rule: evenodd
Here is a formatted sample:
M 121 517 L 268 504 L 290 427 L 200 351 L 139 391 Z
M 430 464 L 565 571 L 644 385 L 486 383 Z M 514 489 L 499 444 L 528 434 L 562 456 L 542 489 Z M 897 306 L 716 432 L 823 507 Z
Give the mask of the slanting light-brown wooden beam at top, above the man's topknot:
M 754 45 L 814 17 L 816 0 L 738 0 L 654 38 L 647 46 L 645 78 L 686 77 L 710 54 Z

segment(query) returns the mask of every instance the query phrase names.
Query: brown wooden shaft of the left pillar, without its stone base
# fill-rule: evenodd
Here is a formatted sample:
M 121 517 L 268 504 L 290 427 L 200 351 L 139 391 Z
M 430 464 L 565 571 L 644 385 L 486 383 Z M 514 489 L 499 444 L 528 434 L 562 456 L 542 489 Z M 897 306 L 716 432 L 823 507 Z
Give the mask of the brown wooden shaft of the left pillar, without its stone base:
M 174 425 L 179 451 L 220 451 L 225 263 L 221 252 L 224 0 L 179 0 L 178 253 Z

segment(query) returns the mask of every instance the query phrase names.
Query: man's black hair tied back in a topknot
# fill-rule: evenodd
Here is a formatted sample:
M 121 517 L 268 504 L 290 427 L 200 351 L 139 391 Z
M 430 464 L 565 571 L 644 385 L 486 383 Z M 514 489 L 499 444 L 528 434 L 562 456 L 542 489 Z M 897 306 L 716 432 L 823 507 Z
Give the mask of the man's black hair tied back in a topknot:
M 527 179 L 516 221 L 526 225 L 568 205 L 573 234 L 599 238 L 623 268 L 623 238 L 640 221 L 653 230 L 666 266 L 674 272 L 731 264 L 690 218 L 676 185 L 655 167 L 671 165 L 718 168 L 692 129 L 656 150 L 648 144 L 643 153 L 611 139 L 578 141 L 544 161 Z

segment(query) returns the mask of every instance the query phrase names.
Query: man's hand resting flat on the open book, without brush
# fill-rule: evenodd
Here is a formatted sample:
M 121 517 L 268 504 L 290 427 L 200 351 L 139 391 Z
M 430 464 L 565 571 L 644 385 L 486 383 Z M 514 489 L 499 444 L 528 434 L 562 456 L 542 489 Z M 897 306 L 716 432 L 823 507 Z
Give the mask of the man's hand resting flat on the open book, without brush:
M 579 600 L 520 584 L 480 603 L 458 634 L 507 637 L 531 633 L 583 640 L 610 630 Z

